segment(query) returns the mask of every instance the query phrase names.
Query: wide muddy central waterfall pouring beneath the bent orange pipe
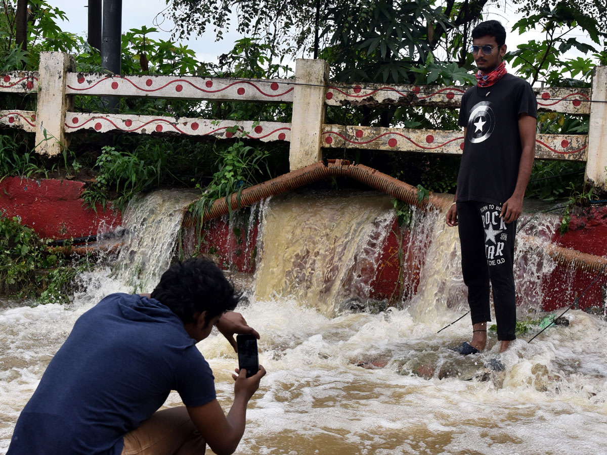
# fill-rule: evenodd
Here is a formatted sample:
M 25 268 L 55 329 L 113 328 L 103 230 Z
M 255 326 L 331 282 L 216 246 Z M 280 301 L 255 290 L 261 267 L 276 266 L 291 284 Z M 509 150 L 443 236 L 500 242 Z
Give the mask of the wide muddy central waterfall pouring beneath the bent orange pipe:
M 393 221 L 390 198 L 375 193 L 274 198 L 263 212 L 256 297 L 293 297 L 327 315 L 368 297 Z

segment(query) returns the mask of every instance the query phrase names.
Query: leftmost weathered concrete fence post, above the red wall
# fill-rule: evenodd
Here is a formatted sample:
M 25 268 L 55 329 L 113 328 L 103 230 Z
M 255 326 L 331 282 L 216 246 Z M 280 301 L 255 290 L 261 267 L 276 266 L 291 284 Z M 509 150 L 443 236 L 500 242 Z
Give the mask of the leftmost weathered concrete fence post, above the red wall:
M 67 147 L 64 133 L 71 96 L 66 96 L 66 74 L 75 69 L 72 55 L 41 52 L 38 70 L 38 109 L 36 110 L 36 152 L 53 157 Z

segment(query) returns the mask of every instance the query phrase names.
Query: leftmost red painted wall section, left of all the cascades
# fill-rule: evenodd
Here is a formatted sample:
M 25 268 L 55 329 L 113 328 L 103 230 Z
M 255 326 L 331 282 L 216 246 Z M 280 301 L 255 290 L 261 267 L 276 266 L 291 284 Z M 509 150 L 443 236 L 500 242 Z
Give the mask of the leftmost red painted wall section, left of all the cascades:
M 80 181 L 6 177 L 0 182 L 0 211 L 8 217 L 18 215 L 42 238 L 86 237 L 103 225 L 120 226 L 120 211 L 103 211 L 100 205 L 97 213 L 85 208 L 83 191 Z

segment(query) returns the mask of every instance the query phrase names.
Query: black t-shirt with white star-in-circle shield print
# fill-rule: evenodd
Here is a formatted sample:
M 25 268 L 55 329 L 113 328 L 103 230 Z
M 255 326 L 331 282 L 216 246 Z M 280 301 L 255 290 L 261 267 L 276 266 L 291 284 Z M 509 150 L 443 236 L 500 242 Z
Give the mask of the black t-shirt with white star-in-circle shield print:
M 529 83 L 504 75 L 490 87 L 464 93 L 459 126 L 467 127 L 457 180 L 458 201 L 502 204 L 517 184 L 522 146 L 518 116 L 537 117 L 537 101 Z

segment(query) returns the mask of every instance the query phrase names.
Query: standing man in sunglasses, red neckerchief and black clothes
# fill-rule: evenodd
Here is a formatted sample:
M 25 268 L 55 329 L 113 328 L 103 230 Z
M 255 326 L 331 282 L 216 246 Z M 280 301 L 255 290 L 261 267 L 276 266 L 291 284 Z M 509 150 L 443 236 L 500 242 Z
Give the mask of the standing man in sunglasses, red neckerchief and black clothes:
M 468 287 L 472 341 L 455 348 L 464 355 L 482 351 L 487 342 L 489 282 L 500 352 L 516 339 L 514 238 L 533 166 L 537 101 L 526 81 L 507 74 L 505 42 L 506 30 L 498 21 L 472 30 L 469 51 L 478 84 L 464 94 L 459 110 L 464 152 L 446 221 L 459 227 Z

